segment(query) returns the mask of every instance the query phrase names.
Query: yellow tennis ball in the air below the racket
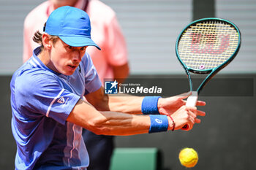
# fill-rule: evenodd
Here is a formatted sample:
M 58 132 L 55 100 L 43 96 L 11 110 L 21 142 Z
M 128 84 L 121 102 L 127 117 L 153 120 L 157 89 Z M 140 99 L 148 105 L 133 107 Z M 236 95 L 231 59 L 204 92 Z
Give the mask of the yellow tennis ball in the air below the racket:
M 187 168 L 192 168 L 197 164 L 198 155 L 193 148 L 185 147 L 179 152 L 178 155 L 181 165 L 186 166 Z

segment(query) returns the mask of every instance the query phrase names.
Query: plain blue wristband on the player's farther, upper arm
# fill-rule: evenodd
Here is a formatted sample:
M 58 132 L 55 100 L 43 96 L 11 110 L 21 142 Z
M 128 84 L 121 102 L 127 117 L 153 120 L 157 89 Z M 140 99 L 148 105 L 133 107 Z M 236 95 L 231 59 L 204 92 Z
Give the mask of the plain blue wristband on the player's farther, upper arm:
M 141 112 L 143 115 L 159 115 L 157 108 L 158 99 L 160 96 L 146 96 L 141 104 Z

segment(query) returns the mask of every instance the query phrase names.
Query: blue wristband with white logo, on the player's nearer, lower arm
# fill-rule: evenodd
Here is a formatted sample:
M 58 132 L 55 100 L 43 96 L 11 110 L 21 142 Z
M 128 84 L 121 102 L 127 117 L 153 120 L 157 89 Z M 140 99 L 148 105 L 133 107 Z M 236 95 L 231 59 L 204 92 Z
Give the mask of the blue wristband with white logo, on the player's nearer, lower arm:
M 168 119 L 166 115 L 149 115 L 150 117 L 150 128 L 148 133 L 167 131 L 168 129 Z

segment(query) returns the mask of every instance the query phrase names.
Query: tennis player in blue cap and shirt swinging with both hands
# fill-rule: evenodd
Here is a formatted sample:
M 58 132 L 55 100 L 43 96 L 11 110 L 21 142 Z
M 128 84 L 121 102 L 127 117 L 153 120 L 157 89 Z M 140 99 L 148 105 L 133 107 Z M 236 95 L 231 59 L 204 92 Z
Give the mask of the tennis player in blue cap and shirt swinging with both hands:
M 105 135 L 146 134 L 187 123 L 192 127 L 200 123 L 197 115 L 205 115 L 185 106 L 190 93 L 170 98 L 106 95 L 86 53 L 88 46 L 100 47 L 91 39 L 83 10 L 59 7 L 44 30 L 34 35 L 41 47 L 10 83 L 15 169 L 87 169 L 83 128 Z

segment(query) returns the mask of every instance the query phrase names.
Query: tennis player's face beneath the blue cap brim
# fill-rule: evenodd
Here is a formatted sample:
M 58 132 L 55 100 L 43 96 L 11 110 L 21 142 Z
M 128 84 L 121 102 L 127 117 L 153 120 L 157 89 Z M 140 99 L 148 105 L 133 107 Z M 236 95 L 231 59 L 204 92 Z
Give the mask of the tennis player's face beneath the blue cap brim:
M 48 67 L 64 75 L 73 74 L 86 53 L 86 47 L 72 47 L 58 39 L 50 50 Z

